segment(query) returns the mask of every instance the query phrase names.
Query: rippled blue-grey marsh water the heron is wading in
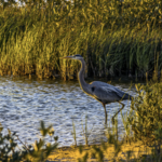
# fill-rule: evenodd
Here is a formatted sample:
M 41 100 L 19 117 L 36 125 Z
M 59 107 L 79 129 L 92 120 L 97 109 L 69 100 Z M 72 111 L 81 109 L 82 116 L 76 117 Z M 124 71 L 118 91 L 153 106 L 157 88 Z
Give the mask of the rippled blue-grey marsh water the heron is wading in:
M 130 89 L 131 82 L 112 81 L 111 84 L 135 95 L 134 87 Z M 122 112 L 125 113 L 130 110 L 131 102 L 123 103 L 125 108 Z M 110 117 L 120 107 L 118 103 L 106 106 L 108 124 L 111 125 Z M 118 119 L 119 129 L 123 130 L 120 113 Z M 4 127 L 3 133 L 10 129 L 17 133 L 22 141 L 33 144 L 41 137 L 39 132 L 41 120 L 45 122 L 45 125 L 53 125 L 55 135 L 58 136 L 59 147 L 75 144 L 73 126 L 78 144 L 84 144 L 85 123 L 90 133 L 90 143 L 97 143 L 106 131 L 102 104 L 84 94 L 78 81 L 37 81 L 0 77 L 0 123 Z M 51 140 L 50 136 L 45 139 Z

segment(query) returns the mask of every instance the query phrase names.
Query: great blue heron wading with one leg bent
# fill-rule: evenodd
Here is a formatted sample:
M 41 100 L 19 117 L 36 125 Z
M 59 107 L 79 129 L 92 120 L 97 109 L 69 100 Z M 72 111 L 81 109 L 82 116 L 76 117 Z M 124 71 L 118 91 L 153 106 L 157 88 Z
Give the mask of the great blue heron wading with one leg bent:
M 100 102 L 105 109 L 105 124 L 107 124 L 107 111 L 106 104 L 118 102 L 122 105 L 122 108 L 112 117 L 112 122 L 114 122 L 114 117 L 124 108 L 124 104 L 121 100 L 132 99 L 132 96 L 127 93 L 122 92 L 113 85 L 110 85 L 100 81 L 93 81 L 87 84 L 84 80 L 84 71 L 85 71 L 85 62 L 84 58 L 77 54 L 73 56 L 66 56 L 62 58 L 70 58 L 78 59 L 81 62 L 81 69 L 79 71 L 79 83 L 84 93 L 92 96 L 96 100 Z

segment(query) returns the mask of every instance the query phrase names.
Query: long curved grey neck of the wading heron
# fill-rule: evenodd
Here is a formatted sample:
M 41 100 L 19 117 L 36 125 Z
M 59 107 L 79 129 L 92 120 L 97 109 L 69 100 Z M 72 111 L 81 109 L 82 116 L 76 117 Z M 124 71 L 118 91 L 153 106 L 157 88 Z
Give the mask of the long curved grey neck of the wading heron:
M 84 80 L 85 62 L 81 60 L 81 69 L 79 71 L 79 83 L 83 91 L 87 92 L 89 84 Z

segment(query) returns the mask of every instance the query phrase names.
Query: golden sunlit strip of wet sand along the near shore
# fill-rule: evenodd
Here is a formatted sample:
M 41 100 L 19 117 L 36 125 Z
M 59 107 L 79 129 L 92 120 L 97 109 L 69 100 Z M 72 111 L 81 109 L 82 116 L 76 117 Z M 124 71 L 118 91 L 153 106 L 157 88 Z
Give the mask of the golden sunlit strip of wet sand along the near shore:
M 106 144 L 107 145 L 107 144 Z M 102 148 L 100 145 L 97 145 L 98 148 Z M 113 161 L 113 159 L 124 160 L 127 159 L 127 151 L 132 151 L 130 159 L 136 159 L 141 156 L 150 154 L 151 148 L 144 146 L 140 141 L 138 143 L 131 143 L 131 144 L 123 144 L 121 147 L 121 151 L 114 158 L 114 146 L 107 145 L 107 149 L 104 152 L 104 161 Z M 90 162 L 97 162 L 98 160 L 92 159 L 91 153 L 94 152 L 93 146 L 83 146 L 83 151 L 80 153 L 79 147 L 63 147 L 58 148 L 54 151 L 50 157 L 49 161 L 56 162 L 56 161 L 66 161 L 66 162 L 76 162 L 79 158 L 82 158 L 86 152 L 89 152 L 89 160 Z

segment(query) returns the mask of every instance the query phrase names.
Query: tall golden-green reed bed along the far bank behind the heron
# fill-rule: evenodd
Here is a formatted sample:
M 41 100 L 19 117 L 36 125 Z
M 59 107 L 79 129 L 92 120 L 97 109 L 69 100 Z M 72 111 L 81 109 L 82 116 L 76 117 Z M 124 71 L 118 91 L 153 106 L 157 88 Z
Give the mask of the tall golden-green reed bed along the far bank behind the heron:
M 162 69 L 160 0 L 53 0 L 0 5 L 0 75 L 76 78 L 81 54 L 89 77 L 146 77 Z

